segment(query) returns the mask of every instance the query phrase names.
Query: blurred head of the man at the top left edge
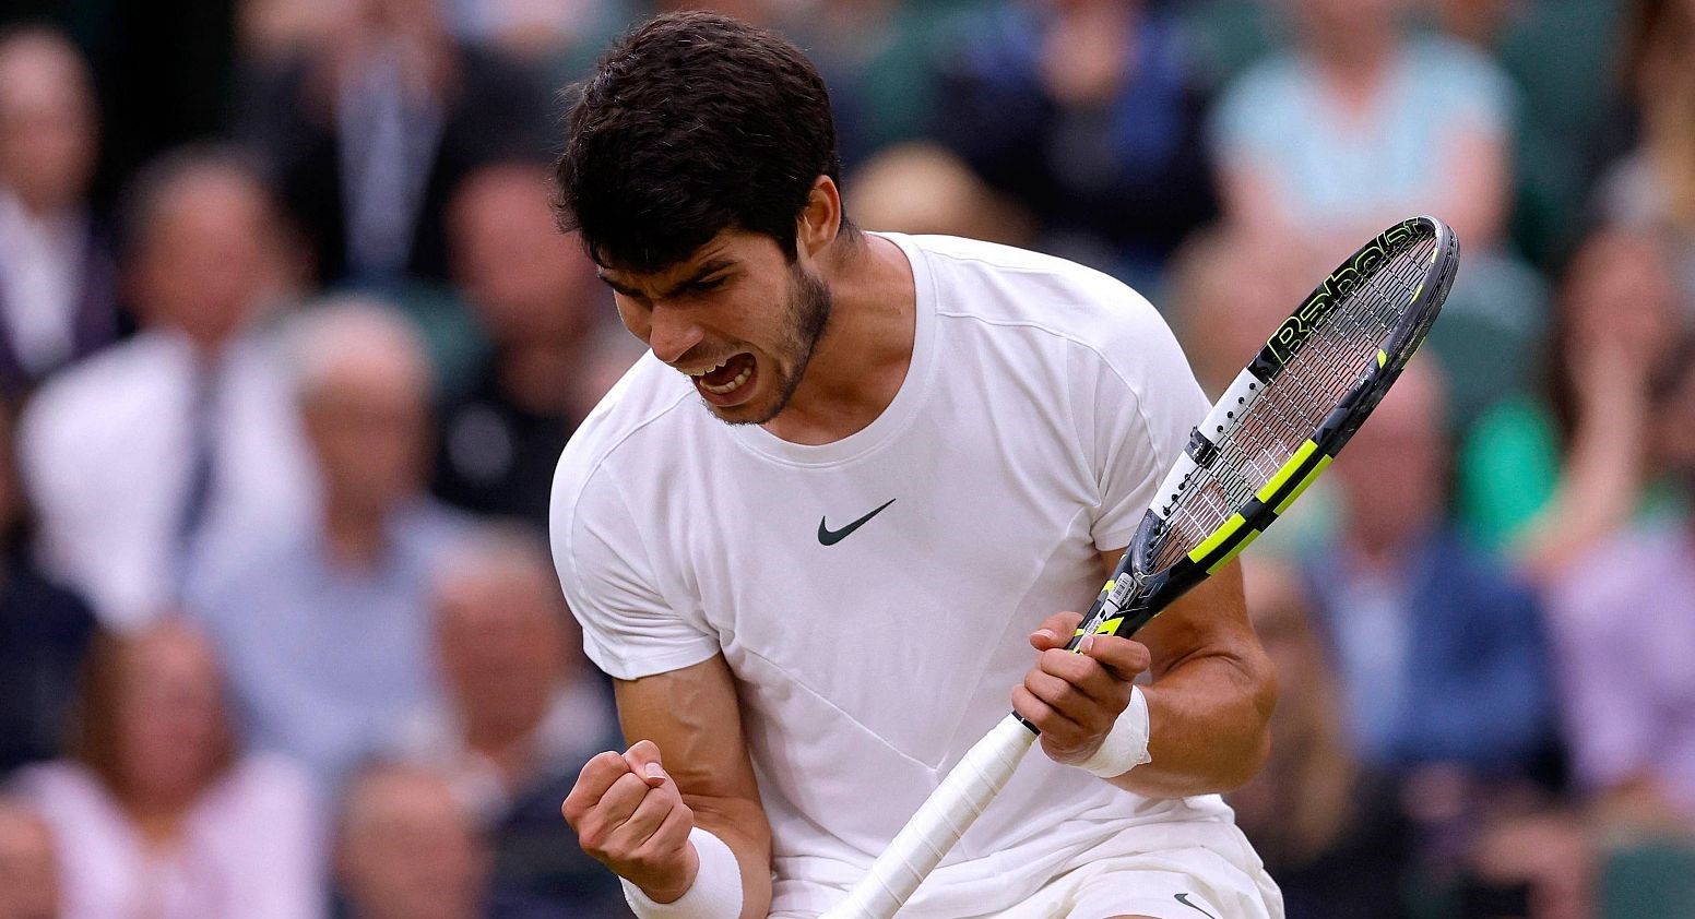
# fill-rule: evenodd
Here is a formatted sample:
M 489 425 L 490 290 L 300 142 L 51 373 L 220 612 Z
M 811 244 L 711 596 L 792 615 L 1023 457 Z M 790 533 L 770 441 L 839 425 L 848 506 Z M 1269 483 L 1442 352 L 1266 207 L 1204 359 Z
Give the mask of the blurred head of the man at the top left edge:
M 37 213 L 75 206 L 95 166 L 88 68 L 53 32 L 0 42 L 0 184 Z

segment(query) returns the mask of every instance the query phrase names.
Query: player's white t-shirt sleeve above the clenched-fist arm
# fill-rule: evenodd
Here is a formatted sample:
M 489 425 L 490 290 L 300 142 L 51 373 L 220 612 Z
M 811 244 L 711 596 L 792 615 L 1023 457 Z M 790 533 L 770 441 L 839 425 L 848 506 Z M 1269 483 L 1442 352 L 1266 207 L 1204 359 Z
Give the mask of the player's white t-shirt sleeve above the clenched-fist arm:
M 583 652 L 620 680 L 700 663 L 719 636 L 698 614 L 664 596 L 658 569 L 617 482 L 595 474 L 554 494 L 553 557 Z

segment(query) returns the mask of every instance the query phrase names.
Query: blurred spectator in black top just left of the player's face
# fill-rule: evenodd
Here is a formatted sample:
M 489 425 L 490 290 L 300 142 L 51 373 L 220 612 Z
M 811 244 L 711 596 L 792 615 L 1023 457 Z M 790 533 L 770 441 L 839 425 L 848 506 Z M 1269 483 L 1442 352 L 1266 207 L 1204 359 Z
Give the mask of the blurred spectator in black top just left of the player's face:
M 559 452 L 593 408 L 590 333 L 615 315 L 575 237 L 559 235 L 551 171 L 471 173 L 447 212 L 454 276 L 492 340 L 470 388 L 441 410 L 434 491 L 461 508 L 546 531 Z

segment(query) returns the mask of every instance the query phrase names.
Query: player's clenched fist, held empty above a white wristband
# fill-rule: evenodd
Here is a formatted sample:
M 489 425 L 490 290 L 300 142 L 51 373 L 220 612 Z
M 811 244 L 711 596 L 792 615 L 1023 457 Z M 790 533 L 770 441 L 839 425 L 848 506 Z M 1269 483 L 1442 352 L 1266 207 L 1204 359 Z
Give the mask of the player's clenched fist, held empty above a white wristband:
M 695 883 L 700 856 L 688 841 L 695 812 L 653 741 L 588 760 L 559 809 L 583 851 L 654 902 L 673 902 Z

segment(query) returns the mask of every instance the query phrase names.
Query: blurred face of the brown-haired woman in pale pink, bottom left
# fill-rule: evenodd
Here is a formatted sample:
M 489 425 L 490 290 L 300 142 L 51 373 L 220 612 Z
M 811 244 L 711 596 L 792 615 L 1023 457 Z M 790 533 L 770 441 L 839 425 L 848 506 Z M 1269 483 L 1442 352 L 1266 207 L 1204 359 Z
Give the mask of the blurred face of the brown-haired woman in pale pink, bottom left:
M 119 653 L 117 763 L 134 804 L 192 801 L 229 748 L 212 647 L 181 625 L 149 630 Z

